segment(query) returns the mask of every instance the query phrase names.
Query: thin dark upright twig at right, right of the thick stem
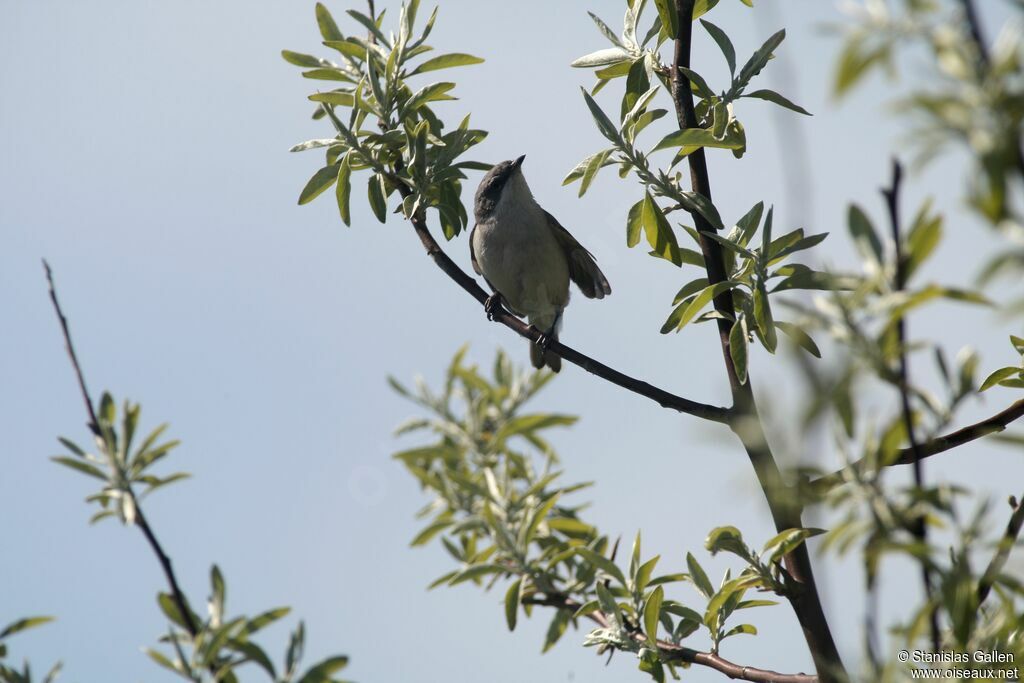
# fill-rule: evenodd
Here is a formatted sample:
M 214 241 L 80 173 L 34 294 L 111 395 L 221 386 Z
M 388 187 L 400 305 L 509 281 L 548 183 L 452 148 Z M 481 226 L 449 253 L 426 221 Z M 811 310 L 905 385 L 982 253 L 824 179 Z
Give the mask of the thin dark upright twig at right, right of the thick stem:
M 893 244 L 896 248 L 896 271 L 894 273 L 893 289 L 902 292 L 906 287 L 906 261 L 903 258 L 903 238 L 900 234 L 899 218 L 899 193 L 901 180 L 903 178 L 903 167 L 899 161 L 893 159 L 892 184 L 882 190 L 886 198 L 886 206 L 889 209 L 889 224 L 892 228 Z M 906 317 L 900 313 L 896 319 L 896 344 L 899 349 L 899 369 L 897 371 L 897 386 L 899 388 L 900 407 L 903 413 L 903 428 L 906 430 L 906 439 L 910 443 L 910 453 L 913 457 L 913 485 L 921 489 L 925 485 L 924 464 L 922 463 L 921 451 L 918 446 L 918 439 L 913 435 L 913 411 L 910 408 L 910 380 L 909 361 L 906 357 Z M 925 525 L 925 516 L 919 515 L 910 524 L 910 532 L 923 545 L 928 544 L 928 527 Z M 926 604 L 932 603 L 932 572 L 927 562 L 921 565 L 921 583 L 925 590 Z M 932 651 L 938 652 L 939 641 L 939 615 L 935 609 L 929 614 L 929 624 L 932 636 Z

